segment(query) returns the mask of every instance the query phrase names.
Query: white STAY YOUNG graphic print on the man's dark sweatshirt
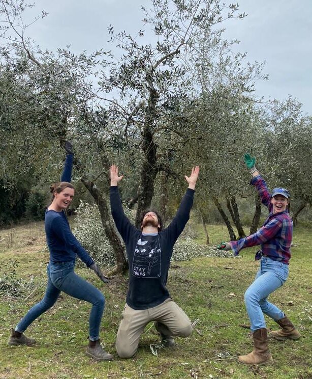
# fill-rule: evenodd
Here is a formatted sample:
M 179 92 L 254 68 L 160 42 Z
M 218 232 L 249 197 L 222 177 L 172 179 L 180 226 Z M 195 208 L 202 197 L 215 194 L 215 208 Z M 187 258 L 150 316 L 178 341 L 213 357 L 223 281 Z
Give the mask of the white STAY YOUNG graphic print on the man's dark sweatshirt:
M 137 278 L 159 278 L 161 276 L 161 247 L 159 237 L 152 242 L 137 242 L 133 256 L 132 275 Z

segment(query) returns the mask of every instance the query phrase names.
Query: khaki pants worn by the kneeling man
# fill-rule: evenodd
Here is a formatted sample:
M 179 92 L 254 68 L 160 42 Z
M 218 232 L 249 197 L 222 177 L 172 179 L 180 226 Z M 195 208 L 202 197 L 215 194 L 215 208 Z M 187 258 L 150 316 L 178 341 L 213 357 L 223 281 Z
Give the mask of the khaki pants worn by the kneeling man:
M 130 358 L 135 354 L 140 336 L 150 321 L 157 321 L 156 329 L 165 336 L 188 337 L 192 333 L 189 317 L 170 298 L 156 307 L 142 310 L 135 310 L 126 304 L 116 338 L 120 358 Z

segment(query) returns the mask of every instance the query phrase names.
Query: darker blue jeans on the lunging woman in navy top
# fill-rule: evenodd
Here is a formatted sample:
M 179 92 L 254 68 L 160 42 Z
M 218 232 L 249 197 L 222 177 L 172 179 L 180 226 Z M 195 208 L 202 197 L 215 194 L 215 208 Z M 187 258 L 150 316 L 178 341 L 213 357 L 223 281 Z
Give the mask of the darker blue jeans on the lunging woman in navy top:
M 92 304 L 89 316 L 89 339 L 97 341 L 100 334 L 100 323 L 105 306 L 105 298 L 95 286 L 74 273 L 75 261 L 49 263 L 47 266 L 48 284 L 42 301 L 18 323 L 15 330 L 23 333 L 42 313 L 55 304 L 61 291 Z

